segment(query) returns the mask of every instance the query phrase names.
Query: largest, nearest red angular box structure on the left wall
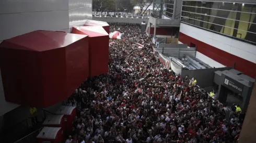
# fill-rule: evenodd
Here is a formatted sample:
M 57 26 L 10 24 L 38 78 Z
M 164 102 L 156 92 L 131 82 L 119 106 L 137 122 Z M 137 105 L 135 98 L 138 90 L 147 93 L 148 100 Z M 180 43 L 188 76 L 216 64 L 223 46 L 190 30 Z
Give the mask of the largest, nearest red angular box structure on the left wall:
M 0 44 L 5 99 L 45 108 L 67 99 L 88 77 L 88 36 L 33 31 Z

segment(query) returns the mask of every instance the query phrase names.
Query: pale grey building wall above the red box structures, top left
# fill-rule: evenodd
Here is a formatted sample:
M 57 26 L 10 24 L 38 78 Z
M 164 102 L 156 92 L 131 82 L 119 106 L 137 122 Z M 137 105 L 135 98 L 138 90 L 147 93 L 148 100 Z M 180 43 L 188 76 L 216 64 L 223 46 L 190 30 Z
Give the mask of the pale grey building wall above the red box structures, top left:
M 92 0 L 0 2 L 0 41 L 34 30 L 68 31 L 91 19 Z

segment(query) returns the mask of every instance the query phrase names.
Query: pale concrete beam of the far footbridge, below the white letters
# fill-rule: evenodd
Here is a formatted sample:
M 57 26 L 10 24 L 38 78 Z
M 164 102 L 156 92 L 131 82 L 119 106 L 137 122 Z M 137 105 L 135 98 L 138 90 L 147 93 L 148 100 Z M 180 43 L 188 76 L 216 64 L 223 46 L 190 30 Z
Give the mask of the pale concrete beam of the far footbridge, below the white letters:
M 119 23 L 138 23 L 143 21 L 147 24 L 148 19 L 141 18 L 114 18 L 114 17 L 92 17 L 92 20 L 105 21 L 105 22 L 119 22 Z

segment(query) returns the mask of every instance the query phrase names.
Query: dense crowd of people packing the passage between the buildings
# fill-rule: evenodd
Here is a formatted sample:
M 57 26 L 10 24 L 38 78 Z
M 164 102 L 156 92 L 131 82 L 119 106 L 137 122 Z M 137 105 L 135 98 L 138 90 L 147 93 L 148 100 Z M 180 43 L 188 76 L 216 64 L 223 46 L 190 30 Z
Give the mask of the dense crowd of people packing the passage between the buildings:
M 77 106 L 66 142 L 236 142 L 239 114 L 181 79 L 154 57 L 155 47 L 137 24 L 110 23 L 109 72 L 87 79 L 68 99 Z M 142 48 L 138 45 L 142 44 Z

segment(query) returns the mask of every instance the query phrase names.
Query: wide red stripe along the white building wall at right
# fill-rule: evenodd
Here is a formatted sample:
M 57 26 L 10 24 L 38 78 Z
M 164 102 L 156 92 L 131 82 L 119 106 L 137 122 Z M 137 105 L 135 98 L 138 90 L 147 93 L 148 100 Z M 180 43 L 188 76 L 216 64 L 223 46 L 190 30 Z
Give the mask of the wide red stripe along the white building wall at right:
M 234 66 L 234 63 L 236 63 L 236 70 L 251 76 L 253 79 L 256 76 L 256 64 L 251 61 L 227 53 L 224 50 L 203 43 L 181 32 L 179 34 L 179 41 L 183 44 L 188 44 L 188 46 L 191 46 L 191 43 L 195 44 L 197 51 L 223 64 L 224 66 L 232 67 Z

